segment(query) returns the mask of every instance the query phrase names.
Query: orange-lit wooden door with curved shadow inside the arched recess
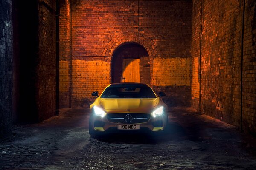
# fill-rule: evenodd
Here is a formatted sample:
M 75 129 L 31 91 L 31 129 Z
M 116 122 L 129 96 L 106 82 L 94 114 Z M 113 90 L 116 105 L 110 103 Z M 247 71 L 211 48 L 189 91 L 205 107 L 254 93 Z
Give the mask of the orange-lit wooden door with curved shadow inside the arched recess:
M 140 59 L 123 59 L 122 82 L 140 82 Z

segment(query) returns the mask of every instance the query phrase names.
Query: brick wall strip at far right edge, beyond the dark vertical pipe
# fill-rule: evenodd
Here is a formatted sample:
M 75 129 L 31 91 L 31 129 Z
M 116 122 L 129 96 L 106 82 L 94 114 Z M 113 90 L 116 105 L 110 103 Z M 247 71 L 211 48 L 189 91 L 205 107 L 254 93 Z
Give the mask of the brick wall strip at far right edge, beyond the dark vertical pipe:
M 256 134 L 256 1 L 245 1 L 243 56 L 243 127 Z

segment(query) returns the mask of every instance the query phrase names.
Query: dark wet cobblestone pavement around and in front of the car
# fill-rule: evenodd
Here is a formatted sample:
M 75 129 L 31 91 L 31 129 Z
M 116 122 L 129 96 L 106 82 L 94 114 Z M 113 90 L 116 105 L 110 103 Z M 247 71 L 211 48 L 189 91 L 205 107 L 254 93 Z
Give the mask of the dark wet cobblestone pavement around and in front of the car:
M 0 169 L 256 170 L 256 138 L 192 108 L 169 110 L 168 131 L 157 136 L 93 139 L 81 109 L 14 126 L 14 136 L 0 142 Z

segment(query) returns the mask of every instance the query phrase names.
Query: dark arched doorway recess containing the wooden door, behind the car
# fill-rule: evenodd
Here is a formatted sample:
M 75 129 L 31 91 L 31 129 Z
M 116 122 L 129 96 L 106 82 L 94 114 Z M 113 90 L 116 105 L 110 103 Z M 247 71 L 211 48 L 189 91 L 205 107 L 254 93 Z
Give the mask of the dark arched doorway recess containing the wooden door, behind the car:
M 137 43 L 124 43 L 113 53 L 111 82 L 143 82 L 150 84 L 150 58 L 146 49 Z

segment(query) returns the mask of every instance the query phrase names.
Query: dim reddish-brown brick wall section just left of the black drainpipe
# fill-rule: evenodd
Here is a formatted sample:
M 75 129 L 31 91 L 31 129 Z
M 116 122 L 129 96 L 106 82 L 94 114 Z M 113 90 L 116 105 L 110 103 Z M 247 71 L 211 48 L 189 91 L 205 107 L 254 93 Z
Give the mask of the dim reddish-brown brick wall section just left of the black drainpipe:
M 38 120 L 55 115 L 56 20 L 55 0 L 42 0 L 38 9 L 39 47 L 36 63 L 36 105 Z

